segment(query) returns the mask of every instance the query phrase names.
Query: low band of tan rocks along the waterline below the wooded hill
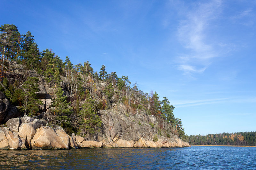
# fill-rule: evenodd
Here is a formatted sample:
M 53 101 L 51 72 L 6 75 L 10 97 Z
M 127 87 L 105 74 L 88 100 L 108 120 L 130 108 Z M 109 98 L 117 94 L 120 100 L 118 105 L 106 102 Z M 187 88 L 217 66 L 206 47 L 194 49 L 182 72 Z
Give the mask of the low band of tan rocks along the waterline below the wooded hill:
M 187 142 L 179 138 L 164 140 L 159 136 L 158 140 L 149 138 L 139 140 L 117 139 L 92 141 L 85 140 L 81 136 L 72 134 L 69 136 L 62 127 L 46 126 L 44 119 L 31 117 L 12 118 L 6 122 L 6 126 L 0 127 L 0 149 L 11 150 L 42 150 L 42 149 L 78 149 L 78 148 L 114 148 L 114 147 L 189 147 Z

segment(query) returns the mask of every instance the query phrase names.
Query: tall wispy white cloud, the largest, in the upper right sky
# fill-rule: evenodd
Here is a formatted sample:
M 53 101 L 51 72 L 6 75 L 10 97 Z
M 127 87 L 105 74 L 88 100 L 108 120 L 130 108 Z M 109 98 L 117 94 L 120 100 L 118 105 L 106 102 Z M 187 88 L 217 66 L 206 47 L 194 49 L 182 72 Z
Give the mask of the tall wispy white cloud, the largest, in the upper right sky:
M 211 21 L 217 18 L 220 7 L 220 0 L 193 4 L 180 21 L 177 36 L 188 52 L 177 57 L 180 63 L 177 68 L 185 74 L 204 72 L 211 59 L 218 56 L 209 41 L 211 35 L 206 30 L 211 26 Z

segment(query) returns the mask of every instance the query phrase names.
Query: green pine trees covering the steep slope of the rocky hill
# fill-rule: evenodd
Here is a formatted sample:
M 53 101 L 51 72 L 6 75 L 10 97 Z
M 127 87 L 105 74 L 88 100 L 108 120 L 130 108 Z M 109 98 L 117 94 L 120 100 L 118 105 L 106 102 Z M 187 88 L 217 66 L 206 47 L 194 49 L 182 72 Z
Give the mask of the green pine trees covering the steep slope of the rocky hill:
M 63 61 L 51 49 L 40 52 L 31 32 L 20 34 L 15 25 L 2 25 L 0 31 L 0 90 L 25 114 L 36 116 L 45 111 L 40 110 L 41 101 L 36 97 L 39 80 L 28 77 L 29 71 L 32 70 L 44 76 L 48 87 L 54 89 L 51 95 L 54 96 L 54 110 L 51 111 L 54 117 L 47 118 L 47 121 L 63 126 L 69 133 L 93 133 L 93 129 L 96 129 L 94 127 L 100 126 L 98 118 L 93 124 L 97 117 L 96 111 L 123 102 L 132 114 L 141 110 L 155 115 L 160 129 L 169 130 L 180 138 L 184 137 L 181 120 L 174 117 L 174 106 L 166 97 L 160 101 L 156 92 L 144 93 L 137 83 L 131 84 L 128 76 L 118 77 L 114 71 L 108 73 L 104 65 L 98 73 L 93 70 L 89 61 L 74 65 L 68 56 Z M 13 62 L 24 66 L 21 81 L 10 82 L 6 78 L 9 65 Z M 97 83 L 104 83 L 106 86 L 97 87 Z M 62 96 L 62 89 L 68 92 L 69 97 Z M 75 107 L 71 106 L 73 101 L 76 101 Z M 80 105 L 81 101 L 85 103 Z M 77 117 L 79 121 L 76 121 Z M 77 128 L 77 124 L 80 128 Z

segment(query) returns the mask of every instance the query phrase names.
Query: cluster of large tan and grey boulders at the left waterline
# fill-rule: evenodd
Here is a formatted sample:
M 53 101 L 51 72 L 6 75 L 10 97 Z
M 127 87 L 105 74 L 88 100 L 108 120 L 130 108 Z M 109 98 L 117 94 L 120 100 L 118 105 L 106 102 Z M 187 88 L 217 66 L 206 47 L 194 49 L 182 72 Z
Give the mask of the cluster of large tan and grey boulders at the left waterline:
M 76 149 L 76 141 L 62 127 L 45 126 L 44 119 L 13 118 L 0 127 L 0 149 Z

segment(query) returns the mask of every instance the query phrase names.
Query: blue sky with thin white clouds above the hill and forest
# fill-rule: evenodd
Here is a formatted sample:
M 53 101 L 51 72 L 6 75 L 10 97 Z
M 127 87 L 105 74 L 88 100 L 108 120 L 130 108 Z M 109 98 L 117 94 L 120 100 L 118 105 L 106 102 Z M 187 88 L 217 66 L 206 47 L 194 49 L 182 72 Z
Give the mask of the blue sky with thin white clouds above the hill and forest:
M 255 0 L 1 0 L 0 24 L 167 97 L 188 135 L 256 131 Z

